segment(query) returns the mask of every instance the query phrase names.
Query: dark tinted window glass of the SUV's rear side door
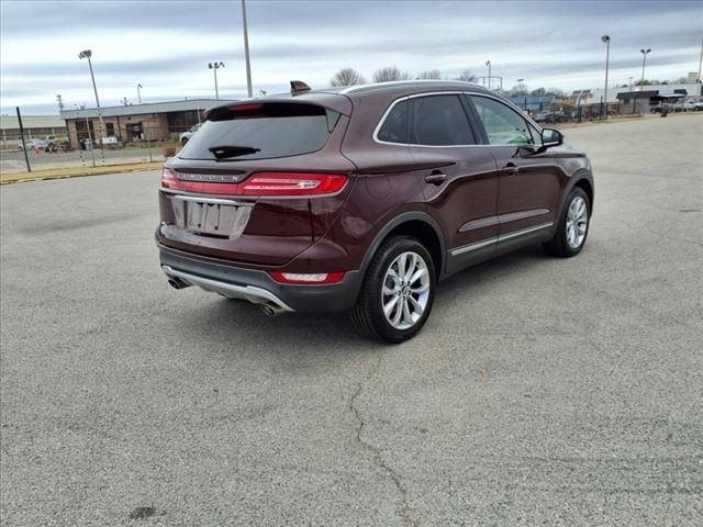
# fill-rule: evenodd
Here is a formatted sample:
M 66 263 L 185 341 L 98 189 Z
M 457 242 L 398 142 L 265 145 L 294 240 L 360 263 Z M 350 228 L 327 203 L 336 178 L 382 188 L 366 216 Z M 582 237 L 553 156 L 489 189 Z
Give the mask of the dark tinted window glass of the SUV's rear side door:
M 473 145 L 464 106 L 457 96 L 427 96 L 412 99 L 413 122 L 410 143 L 426 146 Z

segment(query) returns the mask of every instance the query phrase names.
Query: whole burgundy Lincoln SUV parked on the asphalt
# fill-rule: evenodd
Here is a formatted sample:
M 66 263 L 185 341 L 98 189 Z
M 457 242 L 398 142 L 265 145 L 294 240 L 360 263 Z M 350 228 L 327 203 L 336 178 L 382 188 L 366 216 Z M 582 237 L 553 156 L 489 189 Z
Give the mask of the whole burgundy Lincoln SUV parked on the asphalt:
M 542 243 L 577 255 L 593 206 L 587 156 L 504 98 L 401 81 L 209 110 L 159 190 L 161 268 L 269 315 L 352 312 L 415 335 L 436 283 Z

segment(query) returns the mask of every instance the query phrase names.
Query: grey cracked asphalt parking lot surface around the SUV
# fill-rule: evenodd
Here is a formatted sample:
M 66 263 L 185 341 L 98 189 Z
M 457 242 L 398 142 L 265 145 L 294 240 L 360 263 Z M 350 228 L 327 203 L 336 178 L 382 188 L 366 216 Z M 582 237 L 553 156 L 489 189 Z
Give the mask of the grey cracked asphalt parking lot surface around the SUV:
M 3 186 L 0 523 L 703 525 L 703 115 L 565 133 L 582 254 L 401 346 L 170 289 L 157 172 Z

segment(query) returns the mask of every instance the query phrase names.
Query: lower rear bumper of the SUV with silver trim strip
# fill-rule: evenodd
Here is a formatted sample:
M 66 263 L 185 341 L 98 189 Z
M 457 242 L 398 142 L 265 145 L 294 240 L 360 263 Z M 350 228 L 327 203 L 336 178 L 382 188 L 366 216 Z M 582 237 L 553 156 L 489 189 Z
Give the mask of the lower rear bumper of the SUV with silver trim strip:
M 158 244 L 161 269 L 170 279 L 188 285 L 242 299 L 254 304 L 272 304 L 281 311 L 345 311 L 356 303 L 361 273 L 347 271 L 338 283 L 293 285 L 275 281 L 267 271 L 244 269 L 222 260 L 167 248 Z

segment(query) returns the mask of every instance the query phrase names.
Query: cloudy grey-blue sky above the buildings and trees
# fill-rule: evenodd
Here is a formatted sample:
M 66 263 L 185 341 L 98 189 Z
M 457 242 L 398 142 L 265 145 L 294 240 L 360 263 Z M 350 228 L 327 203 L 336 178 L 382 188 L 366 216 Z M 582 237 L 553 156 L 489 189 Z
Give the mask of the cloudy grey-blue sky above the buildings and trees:
M 213 98 L 208 63 L 219 71 L 220 97 L 246 93 L 239 0 L 19 1 L 2 0 L 1 112 L 26 114 L 94 105 L 88 64 L 104 106 Z M 703 38 L 699 1 L 256 1 L 247 0 L 255 91 L 284 91 L 290 79 L 328 86 L 342 67 L 367 78 L 395 65 L 446 77 L 470 69 L 524 78 L 528 88 L 565 90 L 603 83 L 611 43 L 612 85 L 641 75 L 640 47 L 650 47 L 647 78 L 678 79 L 698 71 Z

